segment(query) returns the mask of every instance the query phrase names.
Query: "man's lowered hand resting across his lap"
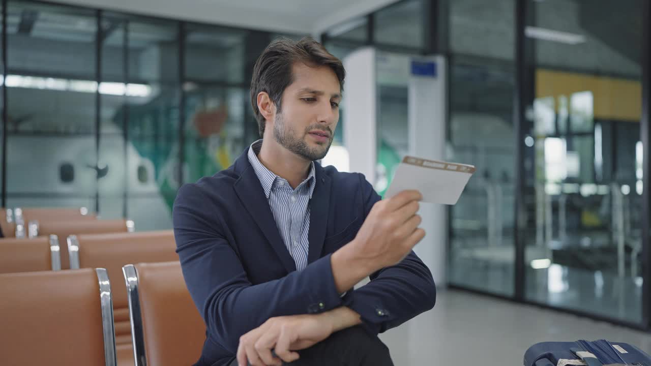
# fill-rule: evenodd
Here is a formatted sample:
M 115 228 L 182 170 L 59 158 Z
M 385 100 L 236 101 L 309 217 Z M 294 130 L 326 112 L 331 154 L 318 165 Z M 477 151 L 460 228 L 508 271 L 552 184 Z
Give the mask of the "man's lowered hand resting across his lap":
M 348 307 L 318 315 L 271 318 L 240 337 L 238 365 L 247 366 L 248 361 L 253 366 L 280 366 L 283 361 L 296 361 L 299 354 L 295 351 L 316 345 L 335 331 L 359 323 L 359 314 Z

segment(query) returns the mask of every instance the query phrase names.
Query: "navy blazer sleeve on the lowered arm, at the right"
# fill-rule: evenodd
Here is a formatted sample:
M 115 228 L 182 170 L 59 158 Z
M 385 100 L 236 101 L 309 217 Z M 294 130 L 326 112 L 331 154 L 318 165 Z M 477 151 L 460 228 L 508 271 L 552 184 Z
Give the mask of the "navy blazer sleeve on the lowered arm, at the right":
M 360 180 L 366 217 L 381 198 L 363 175 Z M 370 280 L 367 285 L 348 292 L 343 305 L 359 313 L 371 333 L 395 328 L 432 309 L 436 302 L 432 273 L 413 251 L 395 266 L 370 275 Z

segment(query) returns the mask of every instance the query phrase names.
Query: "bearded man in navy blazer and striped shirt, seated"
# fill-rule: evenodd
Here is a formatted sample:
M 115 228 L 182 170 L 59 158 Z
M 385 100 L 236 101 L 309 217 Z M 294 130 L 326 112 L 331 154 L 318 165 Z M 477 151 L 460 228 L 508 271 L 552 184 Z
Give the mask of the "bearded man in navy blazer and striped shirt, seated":
M 179 190 L 177 253 L 207 328 L 197 365 L 393 365 L 378 333 L 434 306 L 411 251 L 425 234 L 421 194 L 380 201 L 363 175 L 315 162 L 344 74 L 312 38 L 272 42 L 251 81 L 263 138 Z

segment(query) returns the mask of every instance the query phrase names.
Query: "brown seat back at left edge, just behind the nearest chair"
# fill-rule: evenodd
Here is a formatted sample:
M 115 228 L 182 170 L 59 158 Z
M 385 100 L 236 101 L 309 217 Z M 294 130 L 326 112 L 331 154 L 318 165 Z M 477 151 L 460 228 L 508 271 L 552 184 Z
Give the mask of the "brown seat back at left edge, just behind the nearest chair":
M 0 274 L 61 270 L 59 238 L 0 239 Z

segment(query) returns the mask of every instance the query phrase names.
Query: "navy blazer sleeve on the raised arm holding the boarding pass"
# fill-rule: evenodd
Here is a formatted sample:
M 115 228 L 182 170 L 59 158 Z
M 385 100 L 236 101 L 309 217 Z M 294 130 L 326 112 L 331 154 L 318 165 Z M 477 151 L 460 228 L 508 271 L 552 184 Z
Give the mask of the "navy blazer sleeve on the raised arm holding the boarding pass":
M 176 252 L 187 289 L 215 341 L 235 353 L 240 337 L 269 318 L 320 313 L 341 305 L 330 255 L 300 272 L 252 285 L 215 221 L 216 209 L 195 184 L 178 191 L 173 208 Z M 210 216 L 213 216 L 210 218 Z

